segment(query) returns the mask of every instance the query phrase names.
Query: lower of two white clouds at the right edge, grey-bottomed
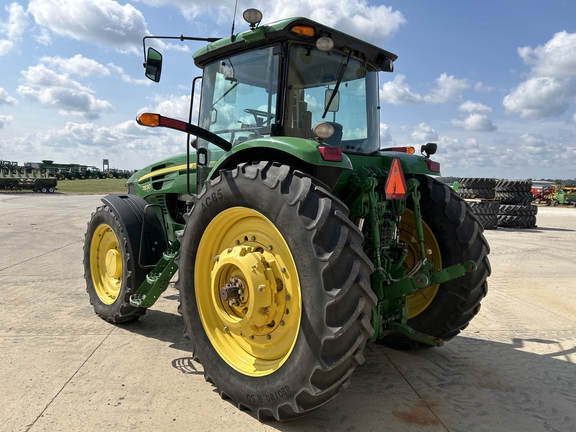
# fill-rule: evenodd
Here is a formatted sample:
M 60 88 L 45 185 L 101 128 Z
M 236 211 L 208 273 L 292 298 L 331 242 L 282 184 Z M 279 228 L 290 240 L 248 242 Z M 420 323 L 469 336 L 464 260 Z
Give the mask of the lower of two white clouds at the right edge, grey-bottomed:
M 524 81 L 502 101 L 506 113 L 541 119 L 564 114 L 576 86 L 571 78 L 536 77 Z

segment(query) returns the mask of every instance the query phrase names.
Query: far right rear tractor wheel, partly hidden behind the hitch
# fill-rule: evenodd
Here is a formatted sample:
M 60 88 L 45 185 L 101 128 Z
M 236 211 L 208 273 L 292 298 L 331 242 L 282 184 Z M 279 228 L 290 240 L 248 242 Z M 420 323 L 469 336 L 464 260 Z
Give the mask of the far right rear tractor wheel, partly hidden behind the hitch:
M 431 177 L 416 178 L 420 181 L 425 249 L 431 255 L 427 258 L 434 263 L 435 269 L 463 264 L 468 260 L 473 260 L 478 266 L 472 273 L 408 296 L 407 324 L 417 332 L 448 341 L 466 328 L 480 310 L 480 301 L 488 291 L 490 248 L 482 234 L 481 224 L 462 198 Z M 413 218 L 410 210 L 402 216 L 401 239 L 403 236 L 406 240 L 413 237 L 409 229 L 414 225 L 411 222 Z M 409 248 L 411 255 L 417 251 L 417 248 Z M 409 266 L 417 261 L 416 256 L 410 258 L 410 255 L 406 260 Z M 430 347 L 400 333 L 387 335 L 382 341 L 397 349 Z

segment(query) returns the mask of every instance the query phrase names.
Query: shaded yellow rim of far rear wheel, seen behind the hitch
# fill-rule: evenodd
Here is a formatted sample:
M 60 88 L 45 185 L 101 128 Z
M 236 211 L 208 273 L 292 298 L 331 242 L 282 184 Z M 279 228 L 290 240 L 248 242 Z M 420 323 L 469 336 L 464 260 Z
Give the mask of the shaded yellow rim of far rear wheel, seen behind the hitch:
M 429 262 L 434 263 L 432 271 L 442 269 L 442 255 L 440 254 L 440 247 L 436 241 L 436 236 L 426 222 L 422 221 L 422 228 L 424 231 L 424 249 L 426 250 L 426 258 Z M 402 221 L 400 223 L 400 241 L 404 242 L 408 247 L 408 257 L 404 261 L 406 271 L 410 271 L 420 261 L 420 245 L 418 243 L 418 236 L 416 234 L 416 224 L 414 220 L 414 212 L 406 210 L 402 214 Z M 408 296 L 408 319 L 424 312 L 430 306 L 432 300 L 438 292 L 439 285 L 432 285 L 424 290 L 418 291 L 415 294 Z

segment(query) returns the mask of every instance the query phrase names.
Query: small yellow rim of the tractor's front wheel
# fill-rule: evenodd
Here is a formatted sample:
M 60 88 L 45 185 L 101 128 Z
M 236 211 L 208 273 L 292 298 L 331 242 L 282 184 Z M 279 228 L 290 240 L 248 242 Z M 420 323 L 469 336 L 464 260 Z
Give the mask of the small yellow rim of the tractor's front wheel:
M 92 236 L 90 271 L 94 290 L 102 303 L 114 303 L 122 288 L 122 253 L 118 237 L 107 224 L 98 225 Z

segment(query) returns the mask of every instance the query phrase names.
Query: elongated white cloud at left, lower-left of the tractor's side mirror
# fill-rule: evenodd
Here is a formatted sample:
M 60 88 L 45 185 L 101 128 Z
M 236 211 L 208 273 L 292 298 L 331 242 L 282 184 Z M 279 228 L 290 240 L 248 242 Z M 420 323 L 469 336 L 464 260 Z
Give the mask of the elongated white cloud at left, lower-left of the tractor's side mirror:
M 43 64 L 30 66 L 22 75 L 25 84 L 16 91 L 29 100 L 58 108 L 62 115 L 94 120 L 102 112 L 113 110 L 109 102 L 96 99 L 88 87 L 70 79 L 66 73 L 57 74 Z

